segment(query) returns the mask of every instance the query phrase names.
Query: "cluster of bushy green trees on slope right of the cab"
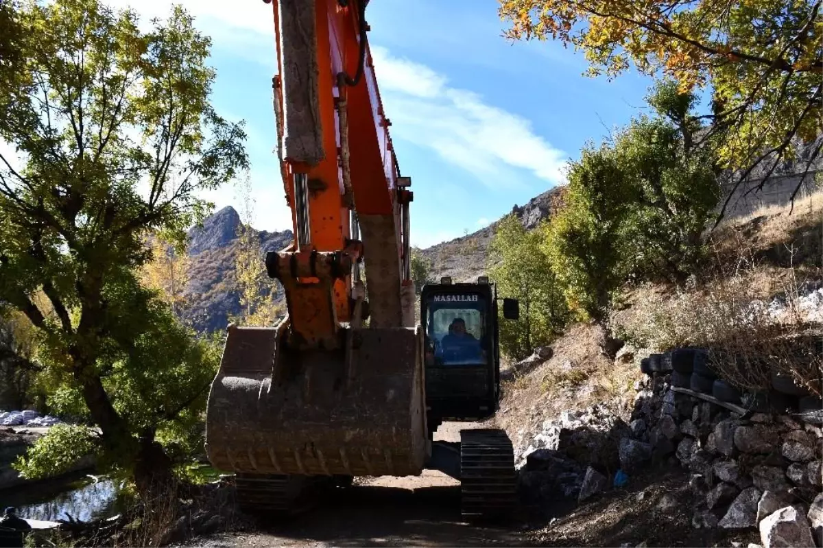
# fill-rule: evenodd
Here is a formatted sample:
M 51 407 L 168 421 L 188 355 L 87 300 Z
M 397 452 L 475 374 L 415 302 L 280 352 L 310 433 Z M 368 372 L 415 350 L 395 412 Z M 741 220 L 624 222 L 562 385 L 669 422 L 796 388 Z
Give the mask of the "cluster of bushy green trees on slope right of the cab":
M 630 276 L 683 281 L 695 272 L 718 203 L 714 142 L 695 140 L 695 96 L 665 82 L 649 104 L 656 116 L 571 163 L 565 207 L 546 239 L 570 307 L 597 321 Z

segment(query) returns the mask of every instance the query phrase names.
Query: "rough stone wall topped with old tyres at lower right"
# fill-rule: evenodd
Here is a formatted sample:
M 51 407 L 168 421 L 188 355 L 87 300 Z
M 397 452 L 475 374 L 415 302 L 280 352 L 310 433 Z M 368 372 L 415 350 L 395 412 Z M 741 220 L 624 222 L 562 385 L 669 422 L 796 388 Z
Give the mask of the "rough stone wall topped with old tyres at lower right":
M 632 430 L 653 461 L 690 471 L 694 527 L 757 527 L 767 547 L 823 546 L 823 421 L 816 413 L 731 411 L 672 389 L 666 371 L 650 372 L 636 388 Z

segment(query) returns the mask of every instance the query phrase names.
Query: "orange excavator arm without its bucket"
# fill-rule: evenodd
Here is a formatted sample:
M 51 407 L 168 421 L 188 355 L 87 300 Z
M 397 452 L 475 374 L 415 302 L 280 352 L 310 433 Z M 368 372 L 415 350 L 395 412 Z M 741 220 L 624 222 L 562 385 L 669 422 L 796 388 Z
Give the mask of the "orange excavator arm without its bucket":
M 305 347 L 336 346 L 340 323 L 351 322 L 362 297 L 361 260 L 370 273 L 371 325 L 414 324 L 412 193 L 380 101 L 367 3 L 273 2 L 278 156 L 296 237 L 268 254 L 267 270 L 286 289 L 291 337 Z

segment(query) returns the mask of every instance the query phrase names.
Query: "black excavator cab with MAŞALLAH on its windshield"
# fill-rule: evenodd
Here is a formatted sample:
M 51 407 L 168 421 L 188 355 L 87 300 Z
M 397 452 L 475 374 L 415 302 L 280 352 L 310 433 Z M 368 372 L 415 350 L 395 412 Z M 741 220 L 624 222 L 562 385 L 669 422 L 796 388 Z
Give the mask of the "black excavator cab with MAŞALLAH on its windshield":
M 518 318 L 518 301 L 504 299 L 504 318 Z M 500 344 L 496 286 L 439 284 L 421 290 L 426 416 L 429 435 L 444 421 L 485 420 L 500 396 Z

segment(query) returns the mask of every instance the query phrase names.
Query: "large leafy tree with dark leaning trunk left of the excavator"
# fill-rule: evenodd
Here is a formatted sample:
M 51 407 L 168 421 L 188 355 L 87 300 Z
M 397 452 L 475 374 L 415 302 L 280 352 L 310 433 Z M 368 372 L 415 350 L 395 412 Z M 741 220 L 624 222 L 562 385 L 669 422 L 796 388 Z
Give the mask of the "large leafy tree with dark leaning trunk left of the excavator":
M 28 0 L 14 17 L 25 62 L 0 63 L 0 81 L 21 82 L 0 96 L 0 138 L 20 155 L 0 156 L 0 300 L 37 328 L 105 460 L 151 494 L 214 363 L 138 281 L 142 237 L 184 240 L 208 210 L 198 191 L 248 167 L 244 126 L 212 107 L 210 40 L 181 7 L 146 32 L 97 0 Z

